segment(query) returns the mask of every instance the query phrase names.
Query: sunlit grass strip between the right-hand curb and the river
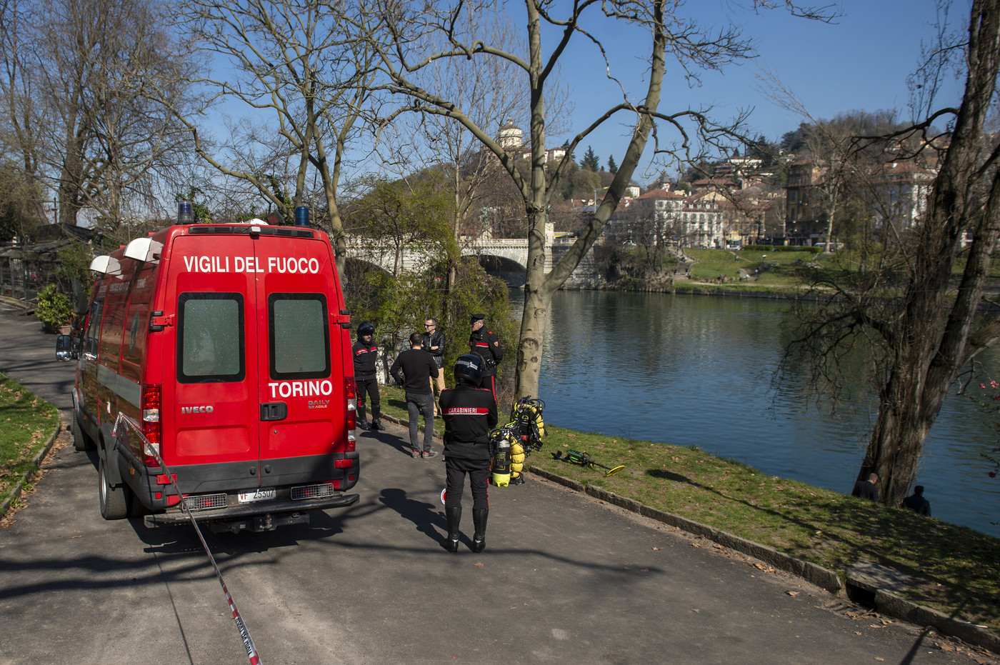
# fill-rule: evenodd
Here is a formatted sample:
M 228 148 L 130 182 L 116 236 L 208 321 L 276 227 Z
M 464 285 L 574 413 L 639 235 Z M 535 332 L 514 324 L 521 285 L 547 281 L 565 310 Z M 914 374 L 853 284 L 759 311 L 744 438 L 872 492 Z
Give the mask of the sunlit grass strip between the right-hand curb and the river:
M 382 408 L 406 419 L 402 390 L 382 386 Z M 505 422 L 501 414 L 501 423 Z M 909 600 L 1000 631 L 1000 540 L 902 508 L 763 475 L 696 448 L 547 427 L 539 467 L 710 525 L 831 570 L 871 561 L 919 580 Z M 619 474 L 556 461 L 588 452 Z M 516 491 L 516 489 L 511 490 Z

